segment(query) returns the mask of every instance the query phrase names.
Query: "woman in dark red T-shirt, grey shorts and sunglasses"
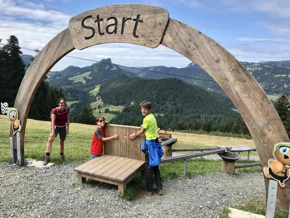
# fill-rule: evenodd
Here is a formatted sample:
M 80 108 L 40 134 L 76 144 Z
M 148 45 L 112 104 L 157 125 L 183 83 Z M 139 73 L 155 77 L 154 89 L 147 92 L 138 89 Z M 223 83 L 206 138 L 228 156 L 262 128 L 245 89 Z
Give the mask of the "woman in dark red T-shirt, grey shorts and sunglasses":
M 70 110 L 66 107 L 66 101 L 64 98 L 58 100 L 58 108 L 54 108 L 51 111 L 51 130 L 48 137 L 46 145 L 46 156 L 43 165 L 47 165 L 50 162 L 50 151 L 52 147 L 53 140 L 57 137 L 59 133 L 59 152 L 61 160 L 68 161 L 64 157 L 64 140 L 66 140 L 66 135 L 69 133 L 70 126 Z M 67 128 L 66 128 L 67 125 Z

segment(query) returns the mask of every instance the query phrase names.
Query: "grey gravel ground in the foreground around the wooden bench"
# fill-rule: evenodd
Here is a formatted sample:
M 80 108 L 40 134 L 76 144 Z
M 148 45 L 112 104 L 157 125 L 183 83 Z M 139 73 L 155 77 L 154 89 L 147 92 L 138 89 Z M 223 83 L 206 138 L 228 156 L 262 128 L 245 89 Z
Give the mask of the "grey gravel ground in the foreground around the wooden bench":
M 218 217 L 220 209 L 265 201 L 261 172 L 195 175 L 163 181 L 164 195 L 141 189 L 121 199 L 106 183 L 75 185 L 80 164 L 50 168 L 0 163 L 0 217 Z M 183 169 L 182 169 L 183 170 Z

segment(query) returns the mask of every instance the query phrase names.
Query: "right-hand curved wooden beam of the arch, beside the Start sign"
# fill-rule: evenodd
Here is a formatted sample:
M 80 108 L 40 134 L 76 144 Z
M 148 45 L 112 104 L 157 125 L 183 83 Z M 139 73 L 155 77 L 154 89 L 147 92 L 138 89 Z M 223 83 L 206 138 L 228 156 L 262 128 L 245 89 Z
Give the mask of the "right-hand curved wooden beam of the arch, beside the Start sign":
M 208 73 L 226 92 L 253 137 L 262 167 L 278 142 L 289 142 L 273 104 L 248 70 L 226 49 L 202 32 L 169 19 L 161 44 L 182 54 Z M 266 193 L 269 179 L 264 177 Z M 266 194 L 267 196 L 267 194 Z M 277 207 L 287 212 L 290 185 L 278 188 Z

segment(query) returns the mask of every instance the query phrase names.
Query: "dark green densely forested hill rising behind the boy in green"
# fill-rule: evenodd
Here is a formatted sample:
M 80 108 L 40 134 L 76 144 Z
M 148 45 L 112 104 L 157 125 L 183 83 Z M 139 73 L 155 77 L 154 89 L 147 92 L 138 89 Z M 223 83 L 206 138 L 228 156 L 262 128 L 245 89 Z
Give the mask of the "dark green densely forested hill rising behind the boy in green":
M 179 79 L 144 80 L 119 76 L 117 80 L 104 83 L 98 93 L 106 104 L 131 105 L 126 107 L 112 122 L 124 124 L 142 121 L 139 104 L 152 102 L 152 112 L 164 128 L 177 121 L 203 120 L 220 124 L 239 114 L 229 98 L 215 92 L 205 91 Z

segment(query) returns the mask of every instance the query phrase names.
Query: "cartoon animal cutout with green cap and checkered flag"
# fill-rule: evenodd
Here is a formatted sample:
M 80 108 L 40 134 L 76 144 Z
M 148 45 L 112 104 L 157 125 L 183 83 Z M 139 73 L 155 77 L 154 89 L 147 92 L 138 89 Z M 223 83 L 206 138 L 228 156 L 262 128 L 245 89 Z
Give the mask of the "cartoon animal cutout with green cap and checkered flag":
M 7 113 L 7 122 L 11 123 L 13 134 L 15 135 L 16 132 L 21 131 L 21 125 L 19 121 L 18 111 L 15 108 L 9 108 L 8 103 L 1 103 L 1 112 L 3 114 Z

